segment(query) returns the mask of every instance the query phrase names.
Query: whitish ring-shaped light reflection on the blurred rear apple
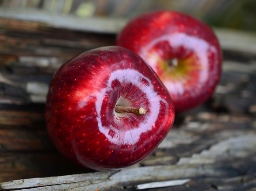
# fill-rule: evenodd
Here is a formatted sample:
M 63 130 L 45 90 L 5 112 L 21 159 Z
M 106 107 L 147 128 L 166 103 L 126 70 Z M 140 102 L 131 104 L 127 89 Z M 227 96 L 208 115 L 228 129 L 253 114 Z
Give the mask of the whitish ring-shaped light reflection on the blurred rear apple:
M 208 76 L 208 68 L 209 68 L 209 57 L 206 55 L 209 55 L 209 50 L 211 50 L 211 54 L 215 55 L 214 52 L 216 52 L 215 48 L 211 45 L 209 45 L 206 41 L 196 38 L 196 37 L 191 37 L 186 35 L 185 33 L 175 33 L 171 35 L 164 35 L 161 36 L 160 38 L 156 38 L 153 40 L 150 44 L 148 44 L 146 47 L 141 49 L 140 55 L 143 59 L 145 59 L 148 63 L 151 64 L 152 68 L 159 74 L 160 69 L 158 70 L 157 66 L 159 65 L 159 59 L 152 59 L 151 56 L 155 57 L 155 54 L 149 53 L 149 50 L 152 50 L 157 43 L 159 42 L 168 42 L 168 44 L 173 48 L 173 49 L 178 49 L 179 47 L 184 47 L 195 51 L 195 54 L 198 56 L 198 64 L 200 64 L 201 68 L 198 68 L 199 70 L 196 70 L 196 76 L 193 77 L 193 81 L 195 83 L 196 79 L 200 81 L 200 83 L 204 84 L 208 81 L 209 76 Z M 197 46 L 194 46 L 197 44 Z M 175 58 L 176 59 L 176 58 Z M 162 70 L 162 69 L 161 69 Z M 186 69 L 187 70 L 187 69 Z M 189 69 L 190 70 L 190 69 Z M 195 69 L 191 68 L 191 71 L 194 71 Z M 165 79 L 163 75 L 159 75 L 160 78 L 162 79 L 163 83 L 171 93 L 171 96 L 176 99 L 176 97 L 181 96 L 186 92 L 188 89 L 190 91 L 195 89 L 195 86 L 186 86 L 186 83 L 189 83 L 189 78 L 186 78 L 184 76 L 181 77 L 176 77 L 176 80 L 169 80 Z M 189 75 L 188 75 L 189 76 Z M 170 75 L 172 79 L 172 75 Z M 195 78 L 196 77 L 196 78 Z M 182 80 L 179 80 L 181 79 Z M 187 89 L 188 88 L 188 89 Z M 197 91 L 200 93 L 200 91 Z

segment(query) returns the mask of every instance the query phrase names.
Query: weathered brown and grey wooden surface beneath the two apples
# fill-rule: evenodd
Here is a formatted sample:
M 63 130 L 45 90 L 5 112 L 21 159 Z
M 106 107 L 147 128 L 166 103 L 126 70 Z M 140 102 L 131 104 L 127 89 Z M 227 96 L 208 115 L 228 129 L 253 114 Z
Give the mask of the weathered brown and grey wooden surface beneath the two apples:
M 54 71 L 82 51 L 114 45 L 121 25 L 98 33 L 0 18 L 0 190 L 170 190 L 150 188 L 164 181 L 173 191 L 255 191 L 255 34 L 216 30 L 224 54 L 216 93 L 177 115 L 166 139 L 140 164 L 94 172 L 55 150 L 43 117 Z

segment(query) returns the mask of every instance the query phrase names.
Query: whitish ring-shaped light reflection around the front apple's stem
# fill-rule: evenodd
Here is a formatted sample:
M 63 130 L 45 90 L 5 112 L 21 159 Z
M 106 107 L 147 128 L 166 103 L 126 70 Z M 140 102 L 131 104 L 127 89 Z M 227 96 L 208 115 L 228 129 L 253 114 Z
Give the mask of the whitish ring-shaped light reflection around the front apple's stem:
M 148 81 L 148 84 L 152 83 L 152 85 L 140 87 L 141 78 Z M 154 115 L 152 113 L 148 113 L 144 119 L 145 121 L 149 121 L 150 123 L 154 124 L 156 122 L 157 114 L 159 113 L 159 104 L 160 104 L 160 99 L 161 99 L 161 97 L 156 94 L 155 89 L 153 87 L 153 85 L 156 83 L 156 81 L 155 80 L 150 81 L 148 78 L 143 76 L 137 70 L 132 70 L 132 69 L 115 70 L 109 76 L 108 82 L 107 82 L 108 87 L 106 89 L 103 89 L 102 93 L 97 96 L 97 101 L 95 102 L 96 103 L 95 108 L 98 111 L 98 115 L 100 115 L 100 113 L 102 112 L 102 104 L 104 102 L 102 95 L 105 95 L 106 92 L 109 92 L 110 89 L 113 88 L 113 87 L 111 87 L 111 85 L 113 84 L 112 82 L 116 81 L 116 80 L 118 80 L 120 82 L 120 84 L 126 84 L 130 81 L 132 85 L 140 87 L 142 92 L 147 96 L 147 100 L 155 100 L 155 102 L 152 102 L 149 105 L 149 110 L 151 110 L 151 111 L 153 110 L 155 112 Z M 126 99 L 128 99 L 128 98 L 126 98 Z M 131 102 L 131 101 L 133 101 L 133 100 L 130 99 L 129 102 Z M 134 100 L 134 102 L 135 102 L 135 100 Z M 105 115 L 101 115 L 101 116 L 102 116 L 101 118 L 98 118 L 99 130 L 101 131 L 101 133 L 105 134 L 108 137 L 109 141 L 111 141 L 115 144 L 120 142 L 119 138 L 122 138 L 121 141 L 126 144 L 134 144 L 135 142 L 137 142 L 137 140 L 140 137 L 140 135 L 138 134 L 138 129 L 139 129 L 139 131 L 141 131 L 142 129 L 144 129 L 146 131 L 149 130 L 148 125 L 146 125 L 145 123 L 140 123 L 140 124 L 138 124 L 138 127 L 132 127 L 132 128 L 130 127 L 129 128 L 130 130 L 126 129 L 126 133 L 124 134 L 124 136 L 115 137 L 115 136 L 112 136 L 113 134 L 111 134 L 111 135 L 109 134 L 109 127 L 108 127 L 108 125 L 106 126 L 105 122 L 104 122 Z M 121 122 L 120 120 L 116 121 L 116 123 L 118 123 L 118 124 L 120 124 L 120 122 Z M 123 124 L 123 126 L 125 126 L 125 124 Z M 115 127 L 115 124 L 113 124 L 112 127 Z M 132 134 L 138 134 L 138 136 L 136 136 L 136 137 L 131 136 Z

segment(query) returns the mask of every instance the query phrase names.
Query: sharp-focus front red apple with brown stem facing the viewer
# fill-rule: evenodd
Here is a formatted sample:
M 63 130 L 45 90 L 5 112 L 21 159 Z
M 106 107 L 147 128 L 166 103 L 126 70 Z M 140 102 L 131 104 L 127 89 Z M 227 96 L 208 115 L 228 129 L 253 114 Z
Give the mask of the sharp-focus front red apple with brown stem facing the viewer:
M 174 116 L 172 99 L 155 72 L 118 46 L 87 51 L 63 64 L 47 95 L 54 145 L 95 170 L 144 159 L 166 136 Z

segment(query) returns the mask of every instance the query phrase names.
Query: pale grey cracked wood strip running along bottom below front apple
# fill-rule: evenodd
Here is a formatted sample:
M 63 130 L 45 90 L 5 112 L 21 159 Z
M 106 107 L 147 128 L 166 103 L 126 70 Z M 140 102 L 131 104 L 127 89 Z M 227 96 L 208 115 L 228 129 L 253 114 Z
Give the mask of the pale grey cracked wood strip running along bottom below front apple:
M 113 172 L 112 172 L 113 173 Z M 26 189 L 33 191 L 36 189 L 45 190 L 104 190 L 110 189 L 121 190 L 122 184 L 137 184 L 138 182 L 164 181 L 179 178 L 195 177 L 229 177 L 231 174 L 235 177 L 239 175 L 235 168 L 225 169 L 221 166 L 198 165 L 198 166 L 150 166 L 125 169 L 120 172 L 114 172 L 107 176 L 109 172 L 87 173 L 72 176 L 49 177 L 49 178 L 32 178 L 24 180 L 15 180 L 12 182 L 1 183 L 2 190 Z M 88 178 L 87 178 L 88 176 Z M 79 178 L 82 177 L 82 178 Z M 71 180 L 70 180 L 71 178 Z M 75 178 L 75 179 L 74 179 Z M 74 180 L 73 180 L 74 179 Z M 54 180 L 54 181 L 52 181 Z M 65 182 L 61 181 L 64 180 Z M 72 182 L 73 180 L 73 182 Z M 101 180 L 101 181 L 97 181 Z M 61 184 L 59 184 L 61 182 Z M 33 188 L 36 187 L 36 188 Z

